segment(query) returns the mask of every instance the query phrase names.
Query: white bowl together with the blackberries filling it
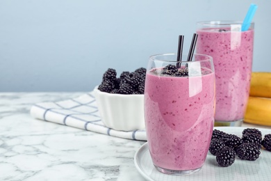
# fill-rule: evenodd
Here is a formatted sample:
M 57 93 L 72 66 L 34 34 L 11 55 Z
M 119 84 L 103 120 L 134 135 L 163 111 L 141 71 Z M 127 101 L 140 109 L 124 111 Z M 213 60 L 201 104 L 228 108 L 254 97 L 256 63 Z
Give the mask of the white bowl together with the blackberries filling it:
M 101 84 L 93 91 L 106 127 L 120 131 L 145 129 L 145 77 L 145 68 L 122 72 L 120 77 L 114 69 L 106 70 Z

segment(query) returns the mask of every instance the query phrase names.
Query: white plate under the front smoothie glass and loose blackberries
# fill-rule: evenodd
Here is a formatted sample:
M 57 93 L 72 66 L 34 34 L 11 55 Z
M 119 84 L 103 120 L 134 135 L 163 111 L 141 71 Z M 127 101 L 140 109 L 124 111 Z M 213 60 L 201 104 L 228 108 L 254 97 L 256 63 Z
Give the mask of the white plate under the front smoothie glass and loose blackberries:
M 215 127 L 229 134 L 242 136 L 245 127 Z M 262 135 L 271 134 L 271 129 L 260 129 Z M 136 152 L 134 162 L 139 173 L 147 180 L 271 180 L 271 152 L 261 149 L 261 155 L 256 161 L 239 159 L 236 156 L 235 162 L 228 167 L 221 167 L 217 164 L 215 156 L 208 152 L 202 169 L 191 175 L 167 175 L 154 168 L 149 155 L 148 144 L 142 145 Z

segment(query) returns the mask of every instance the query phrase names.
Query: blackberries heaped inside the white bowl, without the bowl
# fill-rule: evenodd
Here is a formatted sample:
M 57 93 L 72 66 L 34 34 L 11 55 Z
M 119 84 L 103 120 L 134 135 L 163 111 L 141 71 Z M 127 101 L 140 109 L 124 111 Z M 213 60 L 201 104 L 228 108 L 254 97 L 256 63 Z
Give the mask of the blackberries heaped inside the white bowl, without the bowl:
M 98 89 L 106 93 L 115 94 L 144 94 L 146 69 L 138 68 L 134 72 L 122 72 L 117 78 L 117 72 L 108 68 Z

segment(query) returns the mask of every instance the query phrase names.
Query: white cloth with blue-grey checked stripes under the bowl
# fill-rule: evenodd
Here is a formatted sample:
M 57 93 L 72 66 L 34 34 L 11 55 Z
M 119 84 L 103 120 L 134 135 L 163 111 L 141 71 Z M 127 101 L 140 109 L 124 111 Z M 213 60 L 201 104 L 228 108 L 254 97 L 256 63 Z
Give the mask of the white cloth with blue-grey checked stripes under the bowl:
M 147 141 L 145 130 L 122 132 L 110 129 L 101 122 L 95 97 L 92 92 L 74 99 L 59 102 L 41 102 L 31 107 L 31 116 L 40 120 L 58 123 L 90 132 L 107 134 L 123 139 Z

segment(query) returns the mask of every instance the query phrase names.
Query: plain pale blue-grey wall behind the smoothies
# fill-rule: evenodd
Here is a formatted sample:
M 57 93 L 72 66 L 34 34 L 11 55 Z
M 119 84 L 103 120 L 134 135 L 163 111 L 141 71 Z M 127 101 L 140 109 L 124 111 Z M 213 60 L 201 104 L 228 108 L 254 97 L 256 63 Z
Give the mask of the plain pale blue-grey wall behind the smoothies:
M 0 91 L 92 91 L 108 68 L 146 67 L 151 54 L 188 52 L 195 23 L 243 21 L 250 3 L 254 71 L 271 71 L 269 0 L 1 0 Z

